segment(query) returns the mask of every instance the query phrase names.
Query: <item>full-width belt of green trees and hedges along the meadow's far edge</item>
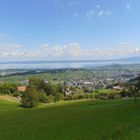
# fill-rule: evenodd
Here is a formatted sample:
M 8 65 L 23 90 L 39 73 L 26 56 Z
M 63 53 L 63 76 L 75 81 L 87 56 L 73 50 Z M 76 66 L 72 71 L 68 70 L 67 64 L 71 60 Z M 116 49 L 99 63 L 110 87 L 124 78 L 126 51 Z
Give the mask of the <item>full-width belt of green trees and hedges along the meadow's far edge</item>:
M 136 78 L 134 82 L 125 83 L 122 86 L 124 90 L 121 92 L 113 91 L 111 93 L 100 92 L 95 90 L 89 92 L 88 89 L 80 92 L 77 89 L 73 89 L 75 92 L 65 95 L 66 87 L 63 84 L 55 82 L 47 82 L 39 78 L 32 77 L 29 79 L 29 84 L 26 91 L 19 92 L 16 84 L 0 84 L 0 94 L 9 94 L 13 96 L 20 96 L 21 103 L 24 107 L 34 107 L 39 103 L 51 103 L 59 100 L 74 100 L 74 99 L 118 99 L 124 97 L 140 96 L 140 77 Z M 121 85 L 120 85 L 121 86 Z M 72 89 L 71 89 L 72 90 Z

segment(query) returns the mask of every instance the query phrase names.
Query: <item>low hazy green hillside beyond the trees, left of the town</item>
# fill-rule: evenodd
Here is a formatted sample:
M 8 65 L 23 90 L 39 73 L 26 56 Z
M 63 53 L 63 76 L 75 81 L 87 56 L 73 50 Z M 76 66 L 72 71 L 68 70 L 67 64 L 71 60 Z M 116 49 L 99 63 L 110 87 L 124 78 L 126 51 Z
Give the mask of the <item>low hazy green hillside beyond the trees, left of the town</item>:
M 47 80 L 64 80 L 64 79 L 86 79 L 86 78 L 92 78 L 93 75 L 91 75 L 91 72 L 88 70 L 59 70 L 59 71 L 50 71 L 50 72 L 43 72 L 43 73 L 25 73 L 25 74 L 14 74 L 14 75 L 7 75 L 2 76 L 1 81 L 3 82 L 14 82 L 18 83 L 20 81 L 24 81 L 29 79 L 32 76 L 39 77 L 41 79 L 47 79 Z

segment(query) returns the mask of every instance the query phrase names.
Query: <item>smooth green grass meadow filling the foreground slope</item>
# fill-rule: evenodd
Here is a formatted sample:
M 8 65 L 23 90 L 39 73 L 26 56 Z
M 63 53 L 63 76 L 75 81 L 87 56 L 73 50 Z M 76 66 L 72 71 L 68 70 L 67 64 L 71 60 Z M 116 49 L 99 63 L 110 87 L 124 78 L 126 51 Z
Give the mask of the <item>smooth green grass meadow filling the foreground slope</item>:
M 140 100 L 69 101 L 24 109 L 0 98 L 0 140 L 139 140 Z

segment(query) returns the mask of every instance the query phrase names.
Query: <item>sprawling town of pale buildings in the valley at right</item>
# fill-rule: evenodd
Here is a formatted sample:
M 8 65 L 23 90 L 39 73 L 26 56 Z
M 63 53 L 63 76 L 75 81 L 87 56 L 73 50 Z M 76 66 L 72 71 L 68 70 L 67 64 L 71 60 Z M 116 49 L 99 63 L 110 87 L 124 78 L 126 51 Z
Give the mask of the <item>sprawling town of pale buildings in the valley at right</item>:
M 126 72 L 126 71 L 114 71 L 114 72 L 103 72 L 101 77 L 95 77 L 90 80 L 73 80 L 70 79 L 66 82 L 68 89 L 71 87 L 77 87 L 79 89 L 88 89 L 89 91 L 105 88 L 113 88 L 115 90 L 121 90 L 121 87 L 114 86 L 117 83 L 125 83 L 130 79 L 136 78 L 138 73 Z

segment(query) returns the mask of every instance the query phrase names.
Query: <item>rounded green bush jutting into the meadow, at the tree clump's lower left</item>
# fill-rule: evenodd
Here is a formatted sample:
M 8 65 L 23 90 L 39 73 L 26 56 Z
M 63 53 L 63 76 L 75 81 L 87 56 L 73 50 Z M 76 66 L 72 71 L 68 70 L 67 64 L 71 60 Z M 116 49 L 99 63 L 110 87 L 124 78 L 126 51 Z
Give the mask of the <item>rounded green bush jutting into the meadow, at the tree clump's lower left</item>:
M 25 108 L 30 108 L 38 105 L 39 95 L 36 89 L 27 88 L 27 90 L 22 93 L 21 103 Z

